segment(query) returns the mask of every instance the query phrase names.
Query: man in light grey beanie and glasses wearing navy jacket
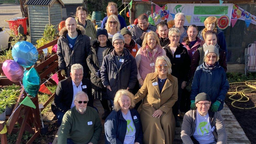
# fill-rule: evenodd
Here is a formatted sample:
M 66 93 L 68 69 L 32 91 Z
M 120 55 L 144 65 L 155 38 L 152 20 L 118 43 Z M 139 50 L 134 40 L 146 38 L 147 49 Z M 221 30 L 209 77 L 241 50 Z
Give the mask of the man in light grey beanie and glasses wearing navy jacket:
M 127 89 L 132 92 L 137 81 L 137 65 L 135 58 L 129 50 L 124 48 L 124 36 L 114 34 L 112 45 L 114 49 L 103 59 L 101 66 L 101 80 L 107 88 L 107 95 L 112 105 L 115 93 L 119 89 Z

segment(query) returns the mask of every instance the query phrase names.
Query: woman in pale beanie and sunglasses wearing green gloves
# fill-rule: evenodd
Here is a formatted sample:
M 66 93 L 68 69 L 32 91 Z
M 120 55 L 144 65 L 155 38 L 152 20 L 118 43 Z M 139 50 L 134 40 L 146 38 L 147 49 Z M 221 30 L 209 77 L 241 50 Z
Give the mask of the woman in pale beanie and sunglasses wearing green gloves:
M 207 93 L 211 99 L 211 111 L 220 111 L 229 89 L 227 75 L 219 65 L 219 50 L 214 45 L 204 47 L 204 62 L 196 68 L 190 95 L 191 109 L 195 110 L 195 97 L 199 93 Z

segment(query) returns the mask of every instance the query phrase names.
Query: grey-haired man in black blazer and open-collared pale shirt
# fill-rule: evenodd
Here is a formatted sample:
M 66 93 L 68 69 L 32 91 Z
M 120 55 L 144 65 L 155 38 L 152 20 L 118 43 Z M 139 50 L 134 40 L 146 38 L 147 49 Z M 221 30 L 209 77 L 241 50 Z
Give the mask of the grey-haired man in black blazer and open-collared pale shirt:
M 74 96 L 80 91 L 87 93 L 89 98 L 87 105 L 94 108 L 91 82 L 83 78 L 83 66 L 74 64 L 71 66 L 70 77 L 58 83 L 54 102 L 51 105 L 51 110 L 57 116 L 59 125 L 64 114 L 75 106 Z

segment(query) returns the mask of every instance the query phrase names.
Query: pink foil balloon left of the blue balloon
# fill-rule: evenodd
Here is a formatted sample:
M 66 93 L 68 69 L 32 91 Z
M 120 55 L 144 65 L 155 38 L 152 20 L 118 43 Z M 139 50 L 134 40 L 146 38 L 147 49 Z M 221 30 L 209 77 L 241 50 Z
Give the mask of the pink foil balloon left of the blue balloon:
M 2 66 L 6 77 L 12 82 L 20 82 L 24 77 L 22 67 L 14 60 L 6 60 Z

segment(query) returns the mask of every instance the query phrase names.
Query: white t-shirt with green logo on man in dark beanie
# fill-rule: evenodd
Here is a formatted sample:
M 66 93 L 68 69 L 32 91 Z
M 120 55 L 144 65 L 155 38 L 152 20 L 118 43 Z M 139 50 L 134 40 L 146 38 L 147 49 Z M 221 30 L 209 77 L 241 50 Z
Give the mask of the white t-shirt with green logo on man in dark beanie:
M 195 132 L 193 134 L 193 137 L 200 143 L 200 144 L 206 144 L 206 143 L 212 143 L 216 142 L 216 139 L 213 135 L 213 131 L 215 127 L 211 126 L 211 121 L 209 118 L 209 114 L 205 116 L 201 116 L 196 109 L 196 126 L 195 126 Z

